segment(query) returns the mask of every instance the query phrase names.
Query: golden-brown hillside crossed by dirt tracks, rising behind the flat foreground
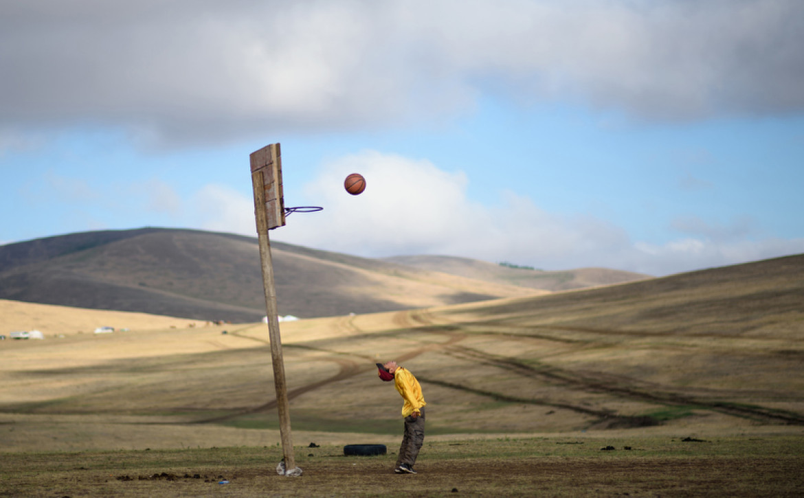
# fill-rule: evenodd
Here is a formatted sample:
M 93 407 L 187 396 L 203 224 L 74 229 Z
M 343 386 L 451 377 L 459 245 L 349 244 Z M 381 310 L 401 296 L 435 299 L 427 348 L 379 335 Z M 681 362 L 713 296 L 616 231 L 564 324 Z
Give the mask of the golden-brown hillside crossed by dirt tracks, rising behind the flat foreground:
M 607 288 L 283 322 L 295 441 L 397 445 L 399 395 L 374 366 L 384 359 L 422 383 L 430 441 L 801 437 L 802 302 L 798 255 Z M 4 447 L 274 446 L 266 326 L 226 329 L 0 341 L 0 427 L 13 429 Z

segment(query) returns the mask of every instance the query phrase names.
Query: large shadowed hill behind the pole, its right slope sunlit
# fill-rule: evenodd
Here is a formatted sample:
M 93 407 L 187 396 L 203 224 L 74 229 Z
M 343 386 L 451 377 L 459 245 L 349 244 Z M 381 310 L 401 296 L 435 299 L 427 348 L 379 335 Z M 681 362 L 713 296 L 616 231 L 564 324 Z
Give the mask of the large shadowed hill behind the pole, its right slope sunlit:
M 461 275 L 454 271 L 456 264 L 450 271 L 436 271 L 278 242 L 272 243 L 272 255 L 282 315 L 384 312 L 559 288 Z M 610 275 L 596 279 L 585 273 L 567 271 L 557 280 L 587 286 L 612 281 Z M 620 280 L 642 277 L 609 273 Z M 160 228 L 84 232 L 2 246 L 0 299 L 195 320 L 248 322 L 265 314 L 256 238 Z

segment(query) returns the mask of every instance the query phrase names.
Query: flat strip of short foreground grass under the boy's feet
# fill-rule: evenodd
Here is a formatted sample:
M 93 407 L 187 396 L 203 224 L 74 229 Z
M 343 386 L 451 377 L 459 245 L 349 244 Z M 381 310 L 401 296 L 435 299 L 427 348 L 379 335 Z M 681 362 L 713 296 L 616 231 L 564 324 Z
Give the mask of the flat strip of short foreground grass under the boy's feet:
M 602 447 L 612 447 L 604 451 Z M 630 448 L 630 449 L 626 449 Z M 425 443 L 416 476 L 395 455 L 297 447 L 0 453 L 0 496 L 800 496 L 802 439 L 609 436 Z M 219 484 L 219 483 L 227 484 Z

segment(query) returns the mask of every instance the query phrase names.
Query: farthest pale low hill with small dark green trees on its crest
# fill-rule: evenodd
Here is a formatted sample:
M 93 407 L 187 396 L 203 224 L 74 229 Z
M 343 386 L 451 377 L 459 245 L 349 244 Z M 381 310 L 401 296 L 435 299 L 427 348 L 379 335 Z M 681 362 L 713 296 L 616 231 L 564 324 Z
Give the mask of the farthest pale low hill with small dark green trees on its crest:
M 600 285 L 621 284 L 653 278 L 631 271 L 609 270 L 607 268 L 580 268 L 566 271 L 542 271 L 503 264 L 488 263 L 477 259 L 455 256 L 416 255 L 384 258 L 389 263 L 430 271 L 443 271 L 470 279 L 486 280 L 498 284 L 542 289 L 545 291 L 567 291 L 577 288 Z

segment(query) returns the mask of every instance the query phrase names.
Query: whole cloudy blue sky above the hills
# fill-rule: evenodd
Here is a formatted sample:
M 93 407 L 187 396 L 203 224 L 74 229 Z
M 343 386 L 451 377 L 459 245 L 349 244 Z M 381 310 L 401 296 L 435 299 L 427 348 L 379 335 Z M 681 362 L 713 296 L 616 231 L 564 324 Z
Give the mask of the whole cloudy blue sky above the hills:
M 270 239 L 653 276 L 804 253 L 799 0 L 0 0 L 0 244 Z M 343 189 L 349 173 L 363 194 Z

